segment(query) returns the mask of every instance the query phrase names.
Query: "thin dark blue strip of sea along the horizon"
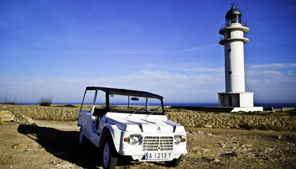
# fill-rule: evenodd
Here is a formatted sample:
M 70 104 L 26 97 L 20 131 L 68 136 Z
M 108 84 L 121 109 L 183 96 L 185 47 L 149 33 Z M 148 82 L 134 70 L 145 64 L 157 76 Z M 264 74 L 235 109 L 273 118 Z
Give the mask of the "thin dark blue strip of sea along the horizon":
M 78 102 L 53 102 L 51 104 L 72 104 L 72 105 L 81 105 Z M 92 103 L 83 103 L 85 105 L 91 105 Z M 104 105 L 105 103 L 97 103 Z M 180 107 L 218 107 L 218 103 L 163 103 L 165 106 L 180 106 Z M 19 103 L 19 105 L 38 105 L 38 103 Z M 126 105 L 126 103 L 117 103 L 116 105 Z M 139 104 L 131 104 L 131 105 L 142 105 Z M 158 106 L 158 103 L 149 103 L 151 106 Z M 254 107 L 263 107 L 263 108 L 282 108 L 282 107 L 296 107 L 296 103 L 254 103 Z

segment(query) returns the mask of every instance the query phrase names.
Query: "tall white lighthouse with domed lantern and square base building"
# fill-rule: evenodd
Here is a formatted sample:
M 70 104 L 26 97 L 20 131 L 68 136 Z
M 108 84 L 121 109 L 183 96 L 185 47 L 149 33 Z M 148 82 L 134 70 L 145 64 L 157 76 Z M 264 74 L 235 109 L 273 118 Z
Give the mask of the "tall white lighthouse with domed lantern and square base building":
M 262 111 L 254 107 L 254 92 L 245 91 L 244 43 L 249 42 L 247 24 L 242 22 L 241 11 L 234 5 L 221 26 L 220 44 L 225 53 L 225 92 L 218 93 L 219 107 L 234 107 L 233 111 Z

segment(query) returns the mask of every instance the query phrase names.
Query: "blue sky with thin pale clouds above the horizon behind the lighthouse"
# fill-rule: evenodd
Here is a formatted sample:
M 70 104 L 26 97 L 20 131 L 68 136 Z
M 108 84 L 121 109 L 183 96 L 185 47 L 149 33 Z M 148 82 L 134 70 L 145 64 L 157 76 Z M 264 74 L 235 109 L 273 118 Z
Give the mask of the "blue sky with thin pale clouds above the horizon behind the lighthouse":
M 218 102 L 231 0 L 0 0 L 0 95 L 80 102 L 86 86 Z M 255 102 L 296 102 L 294 0 L 240 0 Z M 249 91 L 246 87 L 246 91 Z

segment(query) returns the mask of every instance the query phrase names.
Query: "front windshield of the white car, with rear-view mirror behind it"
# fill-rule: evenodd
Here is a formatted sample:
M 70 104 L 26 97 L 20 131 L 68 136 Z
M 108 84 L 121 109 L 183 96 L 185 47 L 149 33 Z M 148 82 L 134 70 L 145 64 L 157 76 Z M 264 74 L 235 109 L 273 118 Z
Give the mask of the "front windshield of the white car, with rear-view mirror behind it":
M 111 112 L 130 114 L 151 114 L 153 112 L 153 115 L 163 115 L 161 100 L 156 98 L 109 94 L 109 102 Z

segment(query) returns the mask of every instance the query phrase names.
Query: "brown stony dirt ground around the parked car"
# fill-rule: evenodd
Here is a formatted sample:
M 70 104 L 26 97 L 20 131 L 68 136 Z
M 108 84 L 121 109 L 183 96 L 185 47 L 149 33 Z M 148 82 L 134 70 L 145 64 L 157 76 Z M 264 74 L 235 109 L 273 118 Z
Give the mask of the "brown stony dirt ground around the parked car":
M 295 169 L 296 132 L 187 128 L 178 169 Z M 78 145 L 76 122 L 0 124 L 0 169 L 102 169 L 101 153 Z M 117 169 L 165 169 L 164 163 L 118 159 Z

